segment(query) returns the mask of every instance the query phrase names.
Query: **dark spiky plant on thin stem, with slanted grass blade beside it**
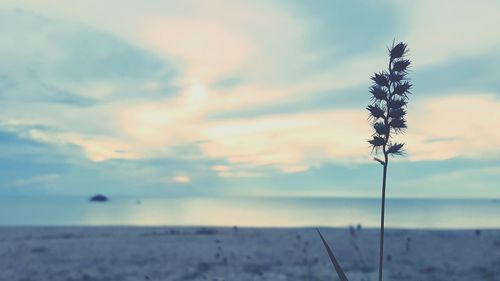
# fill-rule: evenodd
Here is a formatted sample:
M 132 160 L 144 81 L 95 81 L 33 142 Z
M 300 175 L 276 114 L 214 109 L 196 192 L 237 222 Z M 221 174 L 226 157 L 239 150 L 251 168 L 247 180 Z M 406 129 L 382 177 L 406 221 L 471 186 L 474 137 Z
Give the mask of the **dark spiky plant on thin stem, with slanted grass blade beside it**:
M 369 112 L 369 120 L 374 130 L 368 143 L 370 143 L 372 153 L 375 155 L 383 155 L 383 159 L 374 157 L 374 160 L 383 166 L 382 202 L 380 210 L 379 281 L 382 281 L 384 267 L 385 190 L 389 156 L 400 156 L 404 154 L 404 143 L 393 141 L 393 135 L 404 133 L 407 128 L 405 119 L 406 105 L 408 103 L 408 94 L 410 94 L 410 89 L 412 87 L 407 77 L 411 64 L 410 60 L 406 59 L 407 52 L 407 44 L 403 42 L 394 44 L 393 42 L 392 47 L 389 48 L 388 69 L 375 73 L 371 77 L 373 81 L 373 85 L 370 87 L 372 97 L 371 103 L 366 108 Z M 348 281 L 345 272 L 335 258 L 333 250 L 319 230 L 318 233 L 340 280 Z

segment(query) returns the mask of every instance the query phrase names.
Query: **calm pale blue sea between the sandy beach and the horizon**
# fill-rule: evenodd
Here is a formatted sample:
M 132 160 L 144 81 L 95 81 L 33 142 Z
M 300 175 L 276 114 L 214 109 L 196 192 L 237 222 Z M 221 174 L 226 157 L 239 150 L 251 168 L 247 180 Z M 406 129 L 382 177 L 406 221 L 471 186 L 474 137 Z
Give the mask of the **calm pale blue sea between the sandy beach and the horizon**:
M 379 225 L 378 199 L 354 198 L 2 198 L 0 225 Z M 500 228 L 498 200 L 389 199 L 386 225 Z

